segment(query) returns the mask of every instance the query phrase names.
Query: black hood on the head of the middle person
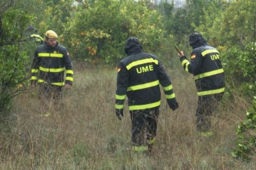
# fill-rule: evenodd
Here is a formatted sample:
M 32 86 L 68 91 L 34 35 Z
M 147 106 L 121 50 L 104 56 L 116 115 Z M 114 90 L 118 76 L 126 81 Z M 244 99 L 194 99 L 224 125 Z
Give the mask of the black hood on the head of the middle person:
M 142 45 L 139 42 L 138 38 L 128 38 L 126 40 L 126 46 L 124 47 L 124 52 L 127 55 L 137 54 L 142 52 Z

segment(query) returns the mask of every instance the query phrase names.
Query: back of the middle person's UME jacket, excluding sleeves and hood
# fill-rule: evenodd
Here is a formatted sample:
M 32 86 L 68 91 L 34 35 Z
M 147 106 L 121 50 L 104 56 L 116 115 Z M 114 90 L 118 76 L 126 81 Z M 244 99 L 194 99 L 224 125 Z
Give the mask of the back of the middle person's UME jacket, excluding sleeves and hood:
M 147 108 L 142 105 L 160 105 L 158 58 L 155 55 L 139 52 L 129 55 L 121 63 L 126 66 L 129 73 L 127 87 L 129 108 L 135 110 L 137 109 L 135 105 L 140 105 L 141 109 Z

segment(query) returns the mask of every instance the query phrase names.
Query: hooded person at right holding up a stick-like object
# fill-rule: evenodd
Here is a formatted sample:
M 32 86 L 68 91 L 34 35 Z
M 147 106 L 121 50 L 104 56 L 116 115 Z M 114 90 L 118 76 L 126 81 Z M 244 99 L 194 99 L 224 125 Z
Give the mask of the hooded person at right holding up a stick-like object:
M 224 70 L 219 52 L 209 46 L 201 34 L 191 34 L 189 44 L 193 49 L 190 60 L 183 51 L 178 55 L 184 70 L 194 75 L 198 91 L 198 107 L 195 114 L 197 131 L 202 136 L 211 136 L 213 132 L 210 116 L 224 94 Z

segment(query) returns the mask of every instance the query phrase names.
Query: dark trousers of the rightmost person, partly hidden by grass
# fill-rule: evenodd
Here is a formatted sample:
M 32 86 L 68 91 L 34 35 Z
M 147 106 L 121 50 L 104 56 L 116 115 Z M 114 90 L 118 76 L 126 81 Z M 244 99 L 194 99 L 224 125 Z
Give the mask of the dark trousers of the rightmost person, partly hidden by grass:
M 196 126 L 198 132 L 208 132 L 211 128 L 211 118 L 224 93 L 202 95 L 198 97 Z

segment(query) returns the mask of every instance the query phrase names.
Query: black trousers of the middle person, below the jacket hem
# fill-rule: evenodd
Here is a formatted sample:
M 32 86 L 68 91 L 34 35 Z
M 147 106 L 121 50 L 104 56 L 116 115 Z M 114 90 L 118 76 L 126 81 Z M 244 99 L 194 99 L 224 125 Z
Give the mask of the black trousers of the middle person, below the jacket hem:
M 134 146 L 151 146 L 155 140 L 159 107 L 148 110 L 132 110 L 132 144 Z

